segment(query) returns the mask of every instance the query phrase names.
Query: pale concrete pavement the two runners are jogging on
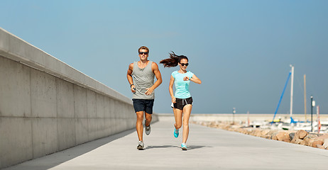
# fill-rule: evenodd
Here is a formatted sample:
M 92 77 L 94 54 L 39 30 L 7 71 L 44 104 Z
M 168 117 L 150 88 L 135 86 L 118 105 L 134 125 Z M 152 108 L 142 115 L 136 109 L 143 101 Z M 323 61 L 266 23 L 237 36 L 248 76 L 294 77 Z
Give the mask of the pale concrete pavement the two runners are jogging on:
M 187 151 L 173 117 L 151 125 L 139 151 L 135 130 L 87 142 L 6 170 L 24 169 L 328 169 L 328 151 L 238 132 L 190 125 Z

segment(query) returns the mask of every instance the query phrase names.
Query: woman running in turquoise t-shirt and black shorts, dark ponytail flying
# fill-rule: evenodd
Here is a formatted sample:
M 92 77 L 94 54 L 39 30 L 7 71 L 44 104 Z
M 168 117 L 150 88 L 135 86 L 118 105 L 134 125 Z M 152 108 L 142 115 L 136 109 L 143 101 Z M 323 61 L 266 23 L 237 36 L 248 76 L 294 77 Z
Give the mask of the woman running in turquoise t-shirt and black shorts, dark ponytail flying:
M 170 58 L 160 61 L 164 67 L 176 67 L 180 69 L 171 74 L 169 91 L 172 98 L 172 107 L 175 117 L 174 137 L 179 136 L 179 129 L 182 126 L 183 115 L 183 132 L 182 132 L 182 150 L 187 150 L 187 138 L 189 135 L 189 118 L 192 111 L 192 96 L 189 92 L 190 81 L 202 84 L 202 81 L 190 71 L 187 71 L 188 58 L 184 55 L 175 55 L 174 52 L 169 53 Z M 175 84 L 175 94 L 173 95 L 173 83 Z

